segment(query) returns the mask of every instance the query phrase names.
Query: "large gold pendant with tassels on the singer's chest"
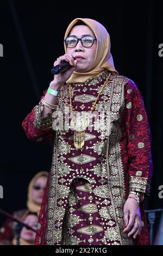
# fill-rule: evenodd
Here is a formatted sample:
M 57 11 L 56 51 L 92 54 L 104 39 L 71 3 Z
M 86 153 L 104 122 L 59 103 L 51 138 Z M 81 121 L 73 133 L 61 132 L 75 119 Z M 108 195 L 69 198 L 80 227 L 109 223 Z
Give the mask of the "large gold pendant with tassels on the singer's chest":
M 73 115 L 70 122 L 70 127 L 74 129 L 74 147 L 82 149 L 84 147 L 85 129 L 90 124 L 89 114 L 86 112 L 77 113 Z

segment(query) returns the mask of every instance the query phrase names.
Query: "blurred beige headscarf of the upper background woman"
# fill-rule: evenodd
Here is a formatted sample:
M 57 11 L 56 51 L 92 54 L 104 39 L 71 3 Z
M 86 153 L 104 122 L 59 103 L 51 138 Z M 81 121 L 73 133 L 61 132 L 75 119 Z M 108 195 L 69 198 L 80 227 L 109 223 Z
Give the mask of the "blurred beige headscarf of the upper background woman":
M 31 212 L 37 212 L 37 214 L 39 214 L 39 212 L 40 212 L 41 205 L 40 204 L 36 204 L 34 202 L 34 200 L 32 198 L 32 190 L 33 190 L 33 186 L 34 186 L 36 180 L 39 179 L 41 176 L 48 177 L 48 172 L 42 171 L 42 172 L 37 173 L 33 177 L 33 179 L 30 181 L 29 186 L 28 186 L 27 208 Z

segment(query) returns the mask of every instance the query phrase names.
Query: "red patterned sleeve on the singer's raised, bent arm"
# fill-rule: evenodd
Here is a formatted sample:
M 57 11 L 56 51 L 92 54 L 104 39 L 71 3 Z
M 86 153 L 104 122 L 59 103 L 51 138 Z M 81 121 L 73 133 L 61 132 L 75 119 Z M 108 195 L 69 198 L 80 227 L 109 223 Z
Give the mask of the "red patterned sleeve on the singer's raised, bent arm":
M 45 96 L 47 90 L 43 92 L 38 105 L 23 120 L 22 127 L 27 137 L 36 142 L 49 142 L 52 140 L 52 114 L 46 118 L 41 117 L 42 105 L 41 100 Z

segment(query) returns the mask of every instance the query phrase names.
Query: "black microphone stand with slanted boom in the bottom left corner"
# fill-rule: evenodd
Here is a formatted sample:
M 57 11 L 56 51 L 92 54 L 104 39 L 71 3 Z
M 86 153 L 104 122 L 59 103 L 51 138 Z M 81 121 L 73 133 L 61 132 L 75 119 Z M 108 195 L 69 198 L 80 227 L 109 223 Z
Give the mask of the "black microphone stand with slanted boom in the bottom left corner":
M 9 214 L 7 211 L 4 211 L 0 208 L 0 214 L 3 214 L 5 216 L 7 216 L 8 218 L 10 218 L 12 221 L 15 221 L 16 224 L 16 245 L 20 245 L 20 233 L 23 227 L 26 227 L 27 229 L 30 229 L 34 232 L 36 232 L 35 229 L 33 229 L 32 227 L 30 227 L 29 225 L 27 225 L 26 223 L 23 223 L 21 220 L 19 220 L 18 218 L 14 217 L 14 215 Z

